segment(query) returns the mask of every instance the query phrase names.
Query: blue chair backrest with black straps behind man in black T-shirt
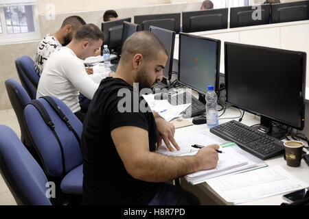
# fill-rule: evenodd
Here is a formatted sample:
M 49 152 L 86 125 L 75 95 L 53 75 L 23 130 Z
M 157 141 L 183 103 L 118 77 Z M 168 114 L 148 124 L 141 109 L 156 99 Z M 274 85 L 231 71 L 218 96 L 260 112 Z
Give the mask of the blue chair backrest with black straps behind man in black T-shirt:
M 80 138 L 82 135 L 82 123 L 80 120 L 65 103 L 56 97 L 52 97 L 52 99 L 54 99 L 60 110 L 65 114 L 71 127 L 73 127 L 78 138 Z M 45 108 L 54 123 L 54 130 L 49 128 L 49 125 L 45 123 L 44 117 L 32 105 L 32 102 L 36 101 L 40 102 Z M 32 100 L 25 107 L 24 119 L 30 139 L 41 158 L 46 175 L 62 177 L 73 168 L 82 164 L 82 153 L 78 139 L 45 99 Z M 56 132 L 56 136 L 53 131 Z

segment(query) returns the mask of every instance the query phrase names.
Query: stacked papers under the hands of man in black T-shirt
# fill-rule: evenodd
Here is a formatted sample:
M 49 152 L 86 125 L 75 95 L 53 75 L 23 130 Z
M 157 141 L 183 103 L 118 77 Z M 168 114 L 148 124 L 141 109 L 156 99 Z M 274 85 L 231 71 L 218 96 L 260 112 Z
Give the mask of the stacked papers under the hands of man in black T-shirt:
M 218 155 L 219 160 L 216 168 L 193 172 L 185 176 L 185 179 L 193 185 L 203 183 L 207 179 L 221 175 L 266 166 L 266 164 L 258 157 L 254 157 L 246 151 L 243 151 L 234 143 L 224 142 L 223 140 L 218 139 L 218 137 L 213 136 L 208 131 L 194 133 L 192 136 L 175 136 L 175 140 L 181 147 L 180 151 L 169 151 L 163 142 L 161 149 L 159 149 L 157 153 L 168 156 L 195 155 L 200 149 L 192 147 L 192 144 L 201 144 L 205 146 L 209 144 L 220 145 L 219 150 L 222 151 L 222 153 L 219 153 Z

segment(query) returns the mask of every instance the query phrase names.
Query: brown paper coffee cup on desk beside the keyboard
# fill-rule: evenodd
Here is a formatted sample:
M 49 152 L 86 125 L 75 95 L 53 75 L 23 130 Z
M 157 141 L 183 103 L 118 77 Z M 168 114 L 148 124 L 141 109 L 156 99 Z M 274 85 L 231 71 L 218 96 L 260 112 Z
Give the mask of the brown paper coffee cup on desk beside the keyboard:
M 304 143 L 290 140 L 284 142 L 286 164 L 288 166 L 297 167 L 301 164 Z

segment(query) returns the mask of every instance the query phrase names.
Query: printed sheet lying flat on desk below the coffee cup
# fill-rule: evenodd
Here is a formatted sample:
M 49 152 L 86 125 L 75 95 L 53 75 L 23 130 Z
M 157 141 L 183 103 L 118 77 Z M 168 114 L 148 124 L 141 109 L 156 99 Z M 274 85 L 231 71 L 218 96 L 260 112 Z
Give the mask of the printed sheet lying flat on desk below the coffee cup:
M 227 202 L 245 203 L 308 187 L 281 166 L 262 168 L 206 181 Z

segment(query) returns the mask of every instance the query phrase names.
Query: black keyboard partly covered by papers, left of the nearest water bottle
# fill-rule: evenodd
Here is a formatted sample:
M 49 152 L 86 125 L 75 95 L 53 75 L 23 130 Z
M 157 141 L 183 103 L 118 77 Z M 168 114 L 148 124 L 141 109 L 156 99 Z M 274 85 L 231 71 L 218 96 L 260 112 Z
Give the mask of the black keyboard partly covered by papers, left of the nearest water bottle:
M 187 107 L 187 110 L 182 112 L 184 118 L 199 116 L 206 112 L 205 104 L 196 99 L 190 92 L 169 94 L 168 102 L 172 105 L 191 103 L 190 107 Z

